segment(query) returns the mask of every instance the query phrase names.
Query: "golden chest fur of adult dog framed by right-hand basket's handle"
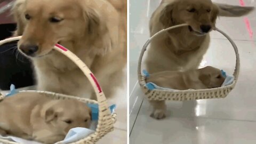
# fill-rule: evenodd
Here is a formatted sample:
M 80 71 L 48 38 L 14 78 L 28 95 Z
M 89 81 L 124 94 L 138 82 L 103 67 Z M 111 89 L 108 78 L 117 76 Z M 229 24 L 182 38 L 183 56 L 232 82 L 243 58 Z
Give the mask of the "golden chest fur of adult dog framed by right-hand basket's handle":
M 194 36 L 195 37 L 195 36 Z M 195 69 L 209 46 L 210 36 L 193 37 L 165 34 L 151 42 L 146 65 L 149 73 Z

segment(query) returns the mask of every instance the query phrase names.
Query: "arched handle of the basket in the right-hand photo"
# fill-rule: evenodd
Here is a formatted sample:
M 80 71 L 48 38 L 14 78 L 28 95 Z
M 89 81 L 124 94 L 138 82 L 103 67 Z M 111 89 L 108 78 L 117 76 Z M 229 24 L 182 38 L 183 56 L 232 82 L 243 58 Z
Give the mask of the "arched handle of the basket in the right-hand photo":
M 143 85 L 141 82 L 143 81 L 142 79 L 142 74 L 141 74 L 141 63 L 142 63 L 142 58 L 143 58 L 143 55 L 145 53 L 145 51 L 147 50 L 147 47 L 148 45 L 150 44 L 150 42 L 156 37 L 158 36 L 159 34 L 162 34 L 164 33 L 165 31 L 168 31 L 168 30 L 171 30 L 171 29 L 174 29 L 174 28 L 178 28 L 178 27 L 184 27 L 184 26 L 188 26 L 187 24 L 182 24 L 182 25 L 177 25 L 177 26 L 172 26 L 172 27 L 169 27 L 169 28 L 166 28 L 166 29 L 162 29 L 160 31 L 158 31 L 155 35 L 151 36 L 148 41 L 144 44 L 144 46 L 142 47 L 142 50 L 141 50 L 141 53 L 140 53 L 140 57 L 139 57 L 139 63 L 138 63 L 138 79 L 139 79 L 139 84 L 140 85 Z M 233 46 L 234 48 L 234 51 L 236 53 L 236 67 L 235 67 L 235 71 L 234 71 L 234 77 L 235 77 L 235 81 L 237 81 L 238 79 L 238 75 L 239 75 L 239 70 L 240 70 L 240 59 L 239 59 L 239 53 L 238 53 L 238 49 L 237 49 L 237 46 L 235 44 L 235 42 L 226 34 L 224 33 L 223 31 L 219 30 L 218 28 L 214 28 L 214 30 L 218 31 L 219 33 L 221 33 L 223 36 L 225 36 L 228 41 L 231 43 L 231 45 Z

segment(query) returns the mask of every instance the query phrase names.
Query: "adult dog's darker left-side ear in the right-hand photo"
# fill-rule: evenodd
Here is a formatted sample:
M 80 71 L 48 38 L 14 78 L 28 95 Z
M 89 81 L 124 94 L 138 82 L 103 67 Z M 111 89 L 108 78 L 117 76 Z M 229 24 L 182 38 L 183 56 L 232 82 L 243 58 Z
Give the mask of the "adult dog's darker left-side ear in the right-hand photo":
M 177 2 L 165 5 L 163 10 L 160 12 L 159 21 L 164 27 L 170 27 L 175 25 L 175 20 L 173 18 L 173 9 L 177 5 Z

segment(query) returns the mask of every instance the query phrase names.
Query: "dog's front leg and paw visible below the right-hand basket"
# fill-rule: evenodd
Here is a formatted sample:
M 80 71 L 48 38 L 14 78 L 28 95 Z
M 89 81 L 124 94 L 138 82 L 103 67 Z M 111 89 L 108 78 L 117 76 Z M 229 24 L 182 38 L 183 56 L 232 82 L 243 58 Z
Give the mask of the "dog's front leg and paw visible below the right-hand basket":
M 151 117 L 156 118 L 156 119 L 163 119 L 165 118 L 165 113 L 166 113 L 166 105 L 165 101 L 149 101 L 151 105 L 153 106 L 153 112 L 151 113 Z

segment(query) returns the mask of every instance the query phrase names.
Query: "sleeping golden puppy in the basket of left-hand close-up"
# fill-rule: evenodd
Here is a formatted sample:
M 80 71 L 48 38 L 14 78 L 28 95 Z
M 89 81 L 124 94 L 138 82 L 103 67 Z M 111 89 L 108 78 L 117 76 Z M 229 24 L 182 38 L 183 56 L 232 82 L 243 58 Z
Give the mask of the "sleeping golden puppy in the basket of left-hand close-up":
M 0 102 L 0 134 L 55 143 L 74 127 L 90 127 L 91 109 L 77 100 L 18 93 Z

